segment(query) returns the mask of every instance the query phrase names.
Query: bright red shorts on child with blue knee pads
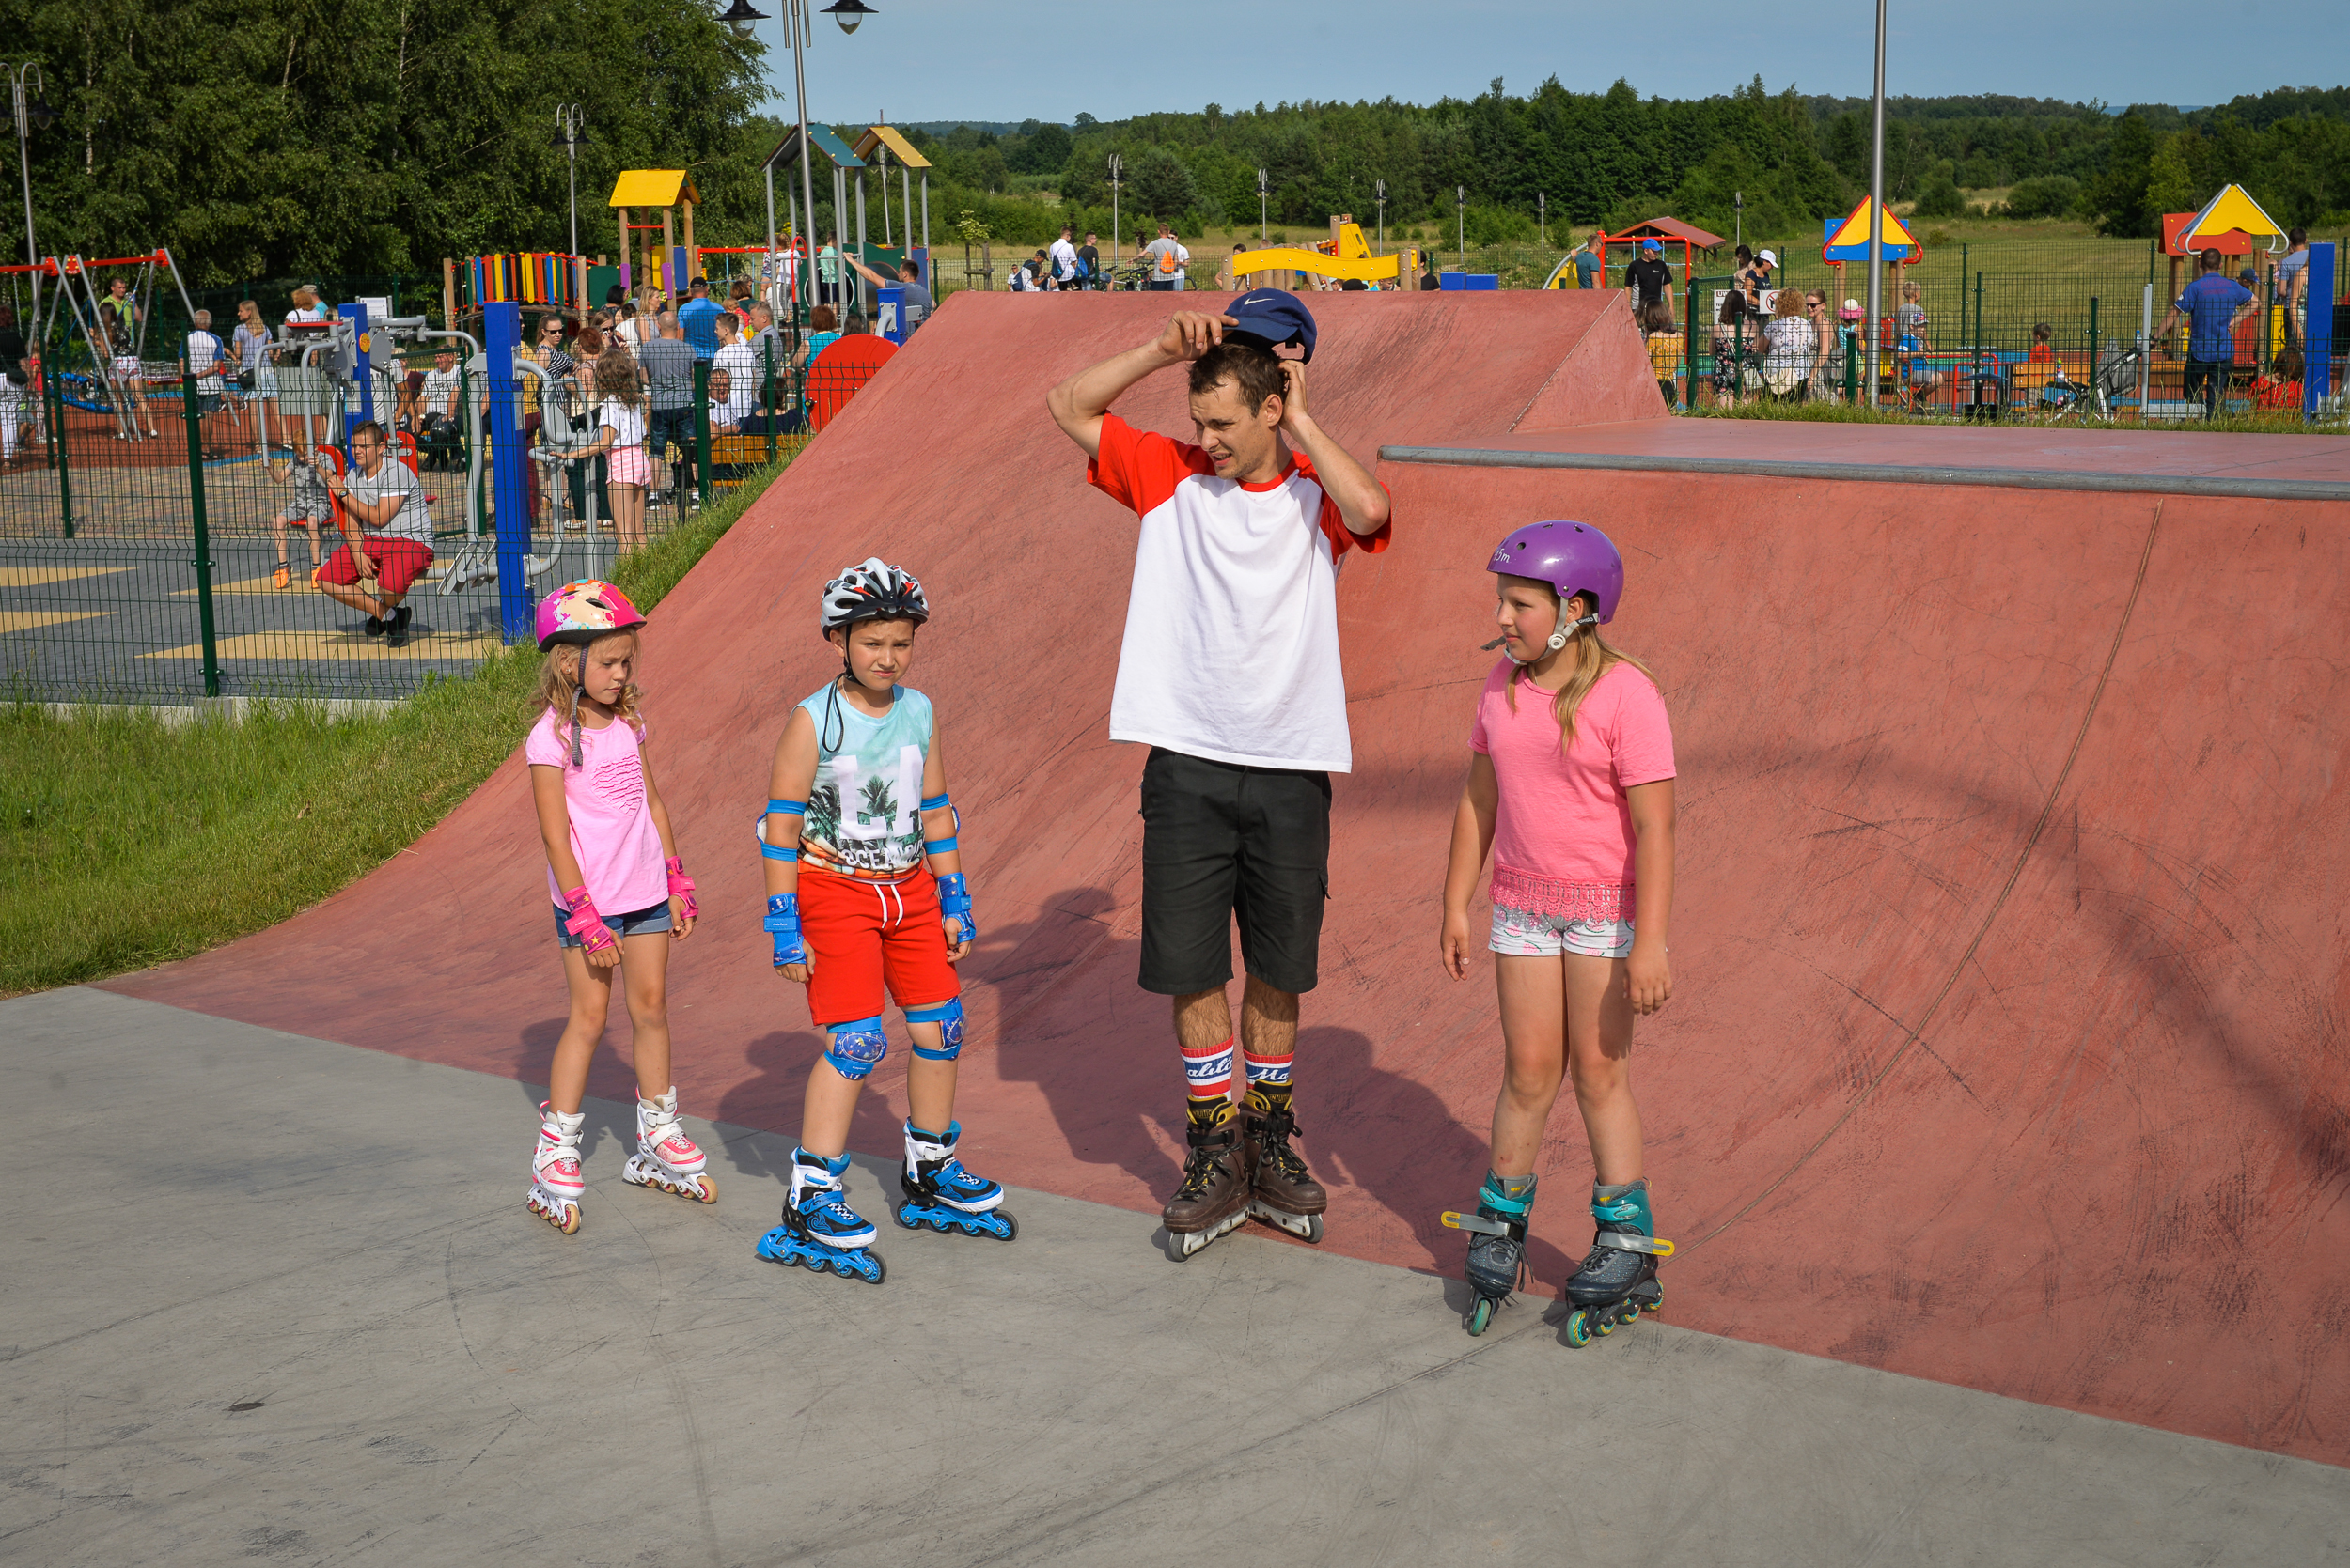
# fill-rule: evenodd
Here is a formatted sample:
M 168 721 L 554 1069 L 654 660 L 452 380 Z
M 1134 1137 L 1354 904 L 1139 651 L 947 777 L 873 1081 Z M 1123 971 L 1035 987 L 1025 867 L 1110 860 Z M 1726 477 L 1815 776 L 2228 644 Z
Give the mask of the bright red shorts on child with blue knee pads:
M 926 869 L 900 883 L 799 871 L 799 932 L 815 958 L 808 1014 L 818 1028 L 881 1016 L 881 986 L 898 1007 L 938 1007 L 964 995 L 947 962 L 938 878 Z

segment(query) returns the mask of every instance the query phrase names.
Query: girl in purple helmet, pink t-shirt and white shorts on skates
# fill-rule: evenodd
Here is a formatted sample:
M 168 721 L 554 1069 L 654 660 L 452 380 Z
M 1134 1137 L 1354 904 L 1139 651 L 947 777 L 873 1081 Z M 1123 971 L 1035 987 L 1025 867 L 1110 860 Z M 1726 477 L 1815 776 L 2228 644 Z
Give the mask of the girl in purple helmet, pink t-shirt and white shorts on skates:
M 1664 1305 L 1631 1096 L 1631 1021 L 1673 995 L 1664 960 L 1673 908 L 1673 728 L 1647 667 L 1600 624 L 1624 596 L 1624 559 L 1589 523 L 1532 523 L 1488 563 L 1509 660 L 1485 678 L 1469 732 L 1469 784 L 1445 871 L 1445 972 L 1469 976 L 1469 904 L 1492 852 L 1502 1096 L 1492 1169 L 1469 1232 L 1469 1333 L 1518 1289 L 1542 1129 L 1572 1070 L 1596 1178 L 1598 1235 L 1567 1279 L 1567 1343 Z M 1633 892 L 1638 890 L 1638 899 Z

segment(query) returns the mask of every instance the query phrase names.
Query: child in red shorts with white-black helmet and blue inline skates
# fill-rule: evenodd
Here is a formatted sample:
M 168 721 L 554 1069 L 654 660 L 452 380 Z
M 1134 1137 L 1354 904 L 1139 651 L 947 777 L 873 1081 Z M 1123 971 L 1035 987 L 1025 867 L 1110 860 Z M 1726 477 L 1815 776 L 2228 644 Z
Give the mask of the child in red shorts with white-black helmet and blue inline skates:
M 832 1035 L 808 1073 L 783 1223 L 759 1239 L 771 1263 L 881 1282 L 874 1228 L 848 1207 L 848 1117 L 888 1052 L 884 988 L 905 1009 L 914 1061 L 898 1223 L 1010 1239 L 1003 1188 L 956 1160 L 954 1059 L 964 1002 L 954 965 L 971 951 L 964 885 L 931 699 L 900 685 L 914 629 L 931 620 L 921 582 L 879 556 L 825 584 L 822 629 L 841 674 L 806 697 L 776 746 L 759 815 L 766 932 L 776 967 L 808 986 Z

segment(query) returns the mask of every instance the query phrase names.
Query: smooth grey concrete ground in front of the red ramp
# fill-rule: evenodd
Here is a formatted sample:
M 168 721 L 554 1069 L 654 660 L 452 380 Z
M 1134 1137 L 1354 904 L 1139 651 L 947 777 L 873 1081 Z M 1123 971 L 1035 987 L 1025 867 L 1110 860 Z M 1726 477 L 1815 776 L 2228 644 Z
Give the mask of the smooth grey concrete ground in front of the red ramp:
M 99 991 L 0 1002 L 0 1066 L 9 1561 L 2350 1561 L 2345 1469 L 1525 1298 L 1471 1340 L 1257 1228 L 1173 1265 L 1020 1190 L 874 1289 L 752 1256 L 771 1134 L 693 1124 L 705 1209 L 590 1101 L 566 1239 L 524 1084 Z

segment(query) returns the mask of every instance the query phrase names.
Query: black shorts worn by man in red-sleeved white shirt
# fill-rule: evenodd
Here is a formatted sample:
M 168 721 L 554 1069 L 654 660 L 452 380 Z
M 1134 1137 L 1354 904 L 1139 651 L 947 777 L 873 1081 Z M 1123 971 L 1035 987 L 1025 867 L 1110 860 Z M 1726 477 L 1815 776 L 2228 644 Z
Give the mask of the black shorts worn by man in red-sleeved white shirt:
M 1330 775 L 1241 768 L 1152 746 L 1142 765 L 1142 988 L 1215 991 L 1241 962 L 1314 991 L 1330 897 Z

